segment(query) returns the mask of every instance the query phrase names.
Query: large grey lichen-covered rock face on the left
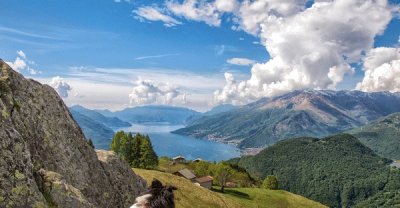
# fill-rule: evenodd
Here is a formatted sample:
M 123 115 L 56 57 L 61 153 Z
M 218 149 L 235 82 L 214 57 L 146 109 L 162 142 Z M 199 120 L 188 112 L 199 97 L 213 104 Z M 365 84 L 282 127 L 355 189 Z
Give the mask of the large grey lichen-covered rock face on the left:
M 0 60 L 0 207 L 127 207 L 145 182 L 109 158 L 51 87 Z

